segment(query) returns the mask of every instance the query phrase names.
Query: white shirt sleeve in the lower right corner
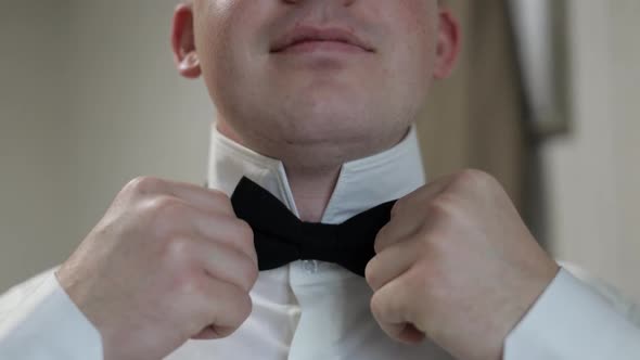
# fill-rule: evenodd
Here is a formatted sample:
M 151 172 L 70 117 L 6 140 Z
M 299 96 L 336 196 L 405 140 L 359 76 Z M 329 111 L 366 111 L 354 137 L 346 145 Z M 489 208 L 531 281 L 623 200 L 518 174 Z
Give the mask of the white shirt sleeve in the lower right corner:
M 628 309 L 563 269 L 507 337 L 503 359 L 638 360 L 638 313 Z

